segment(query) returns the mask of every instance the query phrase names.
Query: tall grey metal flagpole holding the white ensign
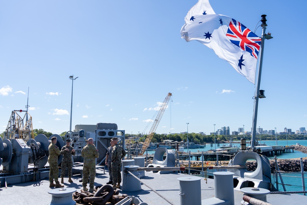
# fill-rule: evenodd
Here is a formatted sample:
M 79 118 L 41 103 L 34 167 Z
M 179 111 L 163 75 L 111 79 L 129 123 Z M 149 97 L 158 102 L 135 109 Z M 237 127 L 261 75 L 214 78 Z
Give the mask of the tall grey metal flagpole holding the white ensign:
M 258 115 L 258 101 L 259 101 L 259 90 L 260 90 L 260 81 L 261 81 L 261 70 L 262 70 L 262 60 L 263 60 L 263 50 L 264 50 L 264 40 L 266 33 L 266 15 L 261 15 L 261 27 L 262 27 L 262 36 L 261 36 L 261 48 L 260 48 L 260 57 L 259 57 L 259 69 L 258 69 L 258 82 L 256 88 L 255 104 L 254 104 L 254 116 L 253 116 L 253 132 L 251 137 L 251 148 L 255 151 L 255 139 L 256 139 L 256 126 L 257 126 L 257 115 Z

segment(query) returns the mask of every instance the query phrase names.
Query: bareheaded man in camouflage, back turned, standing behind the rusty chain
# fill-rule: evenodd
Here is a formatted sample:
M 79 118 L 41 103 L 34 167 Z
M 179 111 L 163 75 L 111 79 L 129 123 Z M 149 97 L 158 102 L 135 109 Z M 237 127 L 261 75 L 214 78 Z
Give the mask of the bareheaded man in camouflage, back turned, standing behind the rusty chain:
M 82 149 L 81 156 L 84 157 L 83 160 L 83 178 L 82 178 L 82 187 L 84 191 L 87 191 L 86 188 L 88 176 L 90 176 L 90 192 L 94 191 L 94 180 L 96 175 L 96 162 L 95 158 L 99 157 L 99 152 L 94 145 L 92 138 L 87 140 L 87 145 Z

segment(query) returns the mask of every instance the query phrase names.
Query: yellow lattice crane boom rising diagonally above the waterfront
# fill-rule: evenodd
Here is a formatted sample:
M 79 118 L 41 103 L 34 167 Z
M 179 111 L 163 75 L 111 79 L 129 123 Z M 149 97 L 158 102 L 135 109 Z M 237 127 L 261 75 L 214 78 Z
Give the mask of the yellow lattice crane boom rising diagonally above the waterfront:
M 157 127 L 158 127 L 158 124 L 159 124 L 159 122 L 161 120 L 161 117 L 162 117 L 162 115 L 163 115 L 163 113 L 164 113 L 164 111 L 166 109 L 167 104 L 169 103 L 169 99 L 171 98 L 171 96 L 172 96 L 172 93 L 168 93 L 167 96 L 165 97 L 163 103 L 161 104 L 161 107 L 160 107 L 160 110 L 159 110 L 159 112 L 157 114 L 157 117 L 156 117 L 156 119 L 153 122 L 153 126 L 151 127 L 151 129 L 149 131 L 149 134 L 147 135 L 146 140 L 145 140 L 145 142 L 143 144 L 142 150 L 140 152 L 141 155 L 144 154 L 144 152 L 146 151 L 147 147 L 149 146 L 150 141 L 153 138 L 153 135 L 154 135 L 154 133 L 155 133 Z

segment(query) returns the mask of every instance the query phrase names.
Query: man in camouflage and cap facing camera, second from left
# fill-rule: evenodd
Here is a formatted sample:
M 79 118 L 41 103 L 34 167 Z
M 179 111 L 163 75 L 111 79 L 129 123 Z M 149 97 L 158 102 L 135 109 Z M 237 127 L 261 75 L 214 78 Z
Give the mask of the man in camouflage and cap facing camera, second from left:
M 65 169 L 68 171 L 68 182 L 72 181 L 72 155 L 76 152 L 72 146 L 70 146 L 70 139 L 66 140 L 66 145 L 62 147 L 61 154 L 63 155 L 62 165 L 61 165 L 61 183 L 64 183 Z

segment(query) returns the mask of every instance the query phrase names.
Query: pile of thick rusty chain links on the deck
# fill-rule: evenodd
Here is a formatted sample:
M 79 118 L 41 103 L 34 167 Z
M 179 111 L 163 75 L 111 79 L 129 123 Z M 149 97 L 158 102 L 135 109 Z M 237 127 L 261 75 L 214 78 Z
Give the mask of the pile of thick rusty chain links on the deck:
M 107 202 L 113 204 L 118 203 L 128 195 L 123 194 L 119 195 L 119 190 L 114 190 L 110 184 L 105 184 L 103 186 L 96 186 L 97 191 L 89 192 L 81 189 L 81 192 L 78 191 L 72 194 L 73 200 L 77 203 L 91 203 L 96 205 L 104 205 Z

